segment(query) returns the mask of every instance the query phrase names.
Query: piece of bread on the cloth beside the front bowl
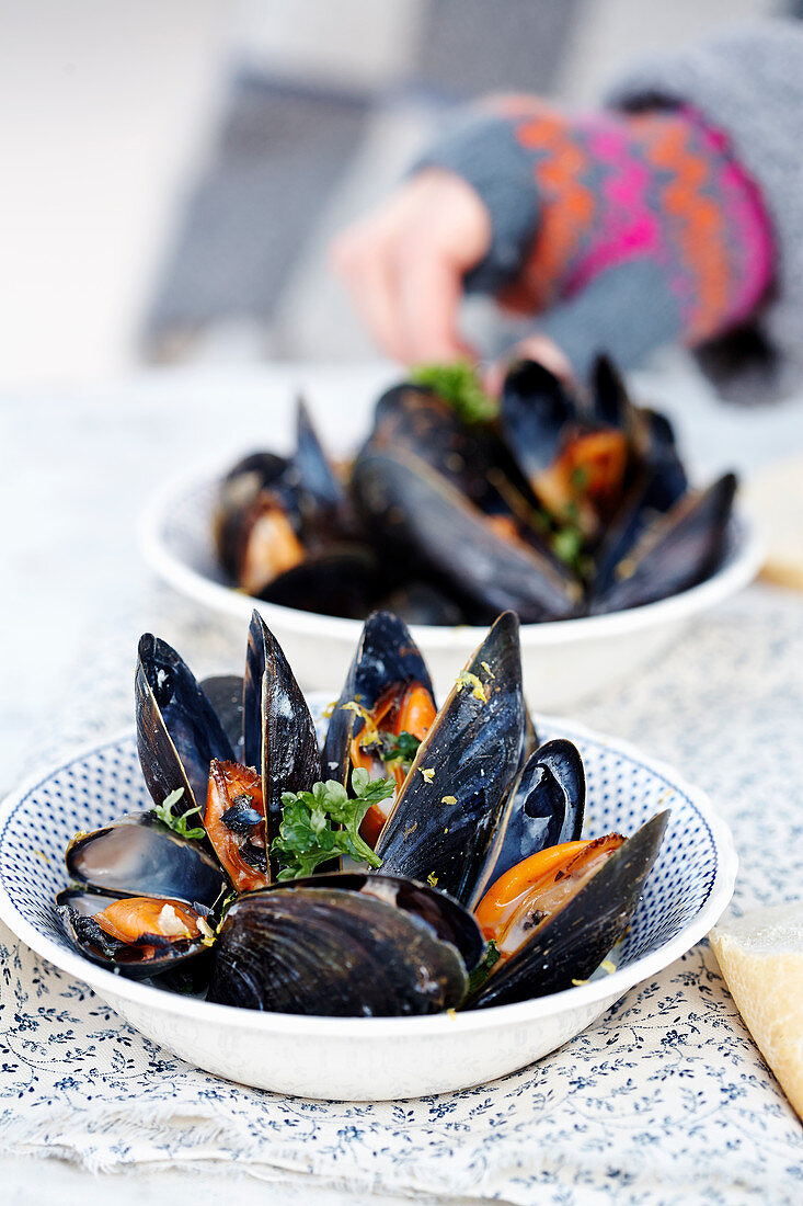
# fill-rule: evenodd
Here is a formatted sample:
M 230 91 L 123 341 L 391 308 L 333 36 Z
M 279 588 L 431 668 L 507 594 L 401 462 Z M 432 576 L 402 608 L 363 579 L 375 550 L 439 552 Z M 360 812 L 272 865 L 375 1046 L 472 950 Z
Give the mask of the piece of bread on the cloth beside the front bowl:
M 748 1030 L 803 1118 L 803 901 L 721 921 L 709 939 Z

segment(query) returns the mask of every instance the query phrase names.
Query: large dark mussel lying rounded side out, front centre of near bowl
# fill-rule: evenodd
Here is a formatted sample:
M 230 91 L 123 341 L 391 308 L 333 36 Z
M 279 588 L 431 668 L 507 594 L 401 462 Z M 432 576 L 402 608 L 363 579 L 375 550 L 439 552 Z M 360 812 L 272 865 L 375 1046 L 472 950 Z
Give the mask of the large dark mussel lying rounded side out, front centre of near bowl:
M 316 876 L 231 906 L 207 999 L 327 1017 L 439 1013 L 463 1001 L 483 946 L 474 918 L 441 892 Z

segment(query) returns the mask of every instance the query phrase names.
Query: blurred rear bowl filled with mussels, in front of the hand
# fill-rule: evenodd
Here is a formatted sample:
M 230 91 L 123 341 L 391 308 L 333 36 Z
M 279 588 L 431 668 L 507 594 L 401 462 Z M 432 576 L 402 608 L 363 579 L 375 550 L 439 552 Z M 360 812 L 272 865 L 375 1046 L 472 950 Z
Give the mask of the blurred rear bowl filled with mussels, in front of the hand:
M 304 686 L 336 684 L 386 608 L 442 692 L 511 609 L 528 697 L 549 710 L 631 677 L 755 576 L 735 493 L 732 473 L 690 484 L 669 420 L 605 357 L 587 387 L 521 362 L 499 402 L 468 365 L 433 365 L 379 398 L 347 461 L 299 400 L 294 451 L 169 482 L 140 534 L 198 604 L 257 607 Z

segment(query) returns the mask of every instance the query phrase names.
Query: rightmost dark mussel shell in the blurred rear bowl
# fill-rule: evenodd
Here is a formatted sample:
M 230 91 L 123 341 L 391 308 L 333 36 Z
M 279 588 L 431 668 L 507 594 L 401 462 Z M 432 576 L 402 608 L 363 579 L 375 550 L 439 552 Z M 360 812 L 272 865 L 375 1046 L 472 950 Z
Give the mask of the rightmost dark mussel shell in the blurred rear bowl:
M 688 492 L 660 516 L 596 593 L 592 613 L 620 611 L 678 595 L 722 563 L 737 479 L 725 474 L 703 493 Z

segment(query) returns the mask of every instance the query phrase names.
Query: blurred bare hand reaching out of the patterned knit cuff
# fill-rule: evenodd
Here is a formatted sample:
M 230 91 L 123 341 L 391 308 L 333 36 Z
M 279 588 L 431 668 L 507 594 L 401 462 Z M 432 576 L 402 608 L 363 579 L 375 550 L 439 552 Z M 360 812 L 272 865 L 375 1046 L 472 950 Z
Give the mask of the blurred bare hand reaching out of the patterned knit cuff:
M 463 277 L 490 241 L 475 191 L 430 169 L 340 235 L 330 254 L 376 343 L 409 364 L 471 355 L 458 330 Z

